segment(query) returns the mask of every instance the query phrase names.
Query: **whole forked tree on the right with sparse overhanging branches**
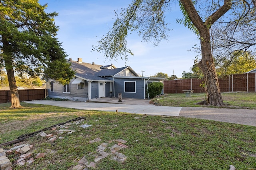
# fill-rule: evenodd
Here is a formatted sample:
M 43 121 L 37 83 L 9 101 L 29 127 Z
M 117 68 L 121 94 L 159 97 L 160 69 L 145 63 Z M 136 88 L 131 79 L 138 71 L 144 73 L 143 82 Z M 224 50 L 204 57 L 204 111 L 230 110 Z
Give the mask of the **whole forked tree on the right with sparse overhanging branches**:
M 234 44 L 234 39 L 238 43 L 238 36 L 232 35 L 242 33 L 238 30 L 244 28 L 243 23 L 246 23 L 248 28 L 255 28 L 255 0 L 250 2 L 247 0 L 180 0 L 179 2 L 184 18 L 178 20 L 178 23 L 184 24 L 200 38 L 202 59 L 198 62 L 198 67 L 202 70 L 205 79 L 205 104 L 222 106 L 224 103 L 220 94 L 213 49 L 218 47 L 221 42 L 230 45 L 225 48 L 231 47 Z M 132 51 L 126 47 L 129 31 L 137 30 L 139 35 L 142 35 L 142 39 L 152 40 L 156 44 L 162 39 L 167 39 L 170 28 L 165 14 L 171 10 L 172 3 L 175 2 L 170 0 L 133 0 L 128 8 L 123 9 L 120 14 L 116 14 L 117 19 L 112 29 L 98 41 L 94 50 L 103 53 L 110 59 L 118 57 L 127 59 L 127 53 L 133 55 Z M 228 35 L 226 37 L 229 39 L 226 39 L 226 43 L 213 41 L 212 33 L 216 33 L 216 31 L 212 30 L 217 30 L 216 28 L 221 29 L 220 34 Z M 231 34 L 228 32 L 229 30 L 232 30 Z M 235 34 L 236 31 L 238 34 Z M 240 37 L 253 39 L 255 35 L 255 33 L 242 34 Z M 250 43 L 250 45 L 254 45 L 254 43 Z

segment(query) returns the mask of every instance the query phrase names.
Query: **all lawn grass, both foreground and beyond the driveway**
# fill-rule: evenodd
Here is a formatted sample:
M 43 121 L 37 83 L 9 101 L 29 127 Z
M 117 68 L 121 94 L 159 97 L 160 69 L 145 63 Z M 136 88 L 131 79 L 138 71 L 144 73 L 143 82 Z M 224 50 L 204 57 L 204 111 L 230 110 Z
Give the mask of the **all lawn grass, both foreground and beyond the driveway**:
M 238 103 L 242 106 L 239 101 L 250 103 L 250 100 L 255 101 L 255 95 L 223 94 L 223 98 L 224 101 L 232 99 L 232 105 Z M 204 99 L 202 94 L 193 94 L 192 98 L 184 96 L 166 95 L 161 100 L 170 100 L 170 104 L 174 104 L 175 98 L 178 102 L 174 106 L 181 106 L 182 100 L 193 106 L 193 102 Z M 83 123 L 92 126 L 84 129 L 72 125 L 70 129 L 76 132 L 58 135 L 64 139 L 53 143 L 41 137 L 26 139 L 22 143 L 33 144 L 33 154 L 46 152 L 46 157 L 27 166 L 14 165 L 13 170 L 72 169 L 84 156 L 89 162 L 94 161 L 97 147 L 114 139 L 128 141 L 125 143 L 128 148 L 118 151 L 127 159 L 120 163 L 112 160 L 113 155 L 110 154 L 96 163 L 96 170 L 228 170 L 230 164 L 238 170 L 256 170 L 256 127 L 253 126 L 185 117 L 85 111 L 23 102 L 22 106 L 24 108 L 10 109 L 10 104 L 0 104 L 0 143 L 80 116 L 86 118 Z M 253 104 L 248 106 L 254 107 Z M 95 138 L 102 141 L 89 143 Z M 13 146 L 4 148 L 10 147 Z M 110 149 L 105 151 L 110 152 Z M 12 154 L 8 158 L 14 164 L 18 157 Z

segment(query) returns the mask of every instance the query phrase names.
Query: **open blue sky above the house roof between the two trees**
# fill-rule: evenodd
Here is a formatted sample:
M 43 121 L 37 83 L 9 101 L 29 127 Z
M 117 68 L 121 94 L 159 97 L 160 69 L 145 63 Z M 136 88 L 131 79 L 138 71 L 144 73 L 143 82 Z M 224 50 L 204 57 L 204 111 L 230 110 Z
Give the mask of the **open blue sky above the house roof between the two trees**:
M 122 59 L 108 60 L 92 46 L 105 35 L 115 19 L 115 10 L 128 7 L 131 0 L 39 0 L 40 4 L 48 4 L 46 12 L 58 12 L 55 18 L 59 26 L 58 39 L 69 55 L 68 58 L 77 60 L 82 58 L 85 63 L 114 64 L 116 67 L 125 66 Z M 162 41 L 158 46 L 145 43 L 136 32 L 128 36 L 128 48 L 132 49 L 133 56 L 128 56 L 127 66 L 131 66 L 138 74 L 153 76 L 158 72 L 182 76 L 183 71 L 190 71 L 195 56 L 191 51 L 195 44 L 200 44 L 197 36 L 188 28 L 176 23 L 181 18 L 178 3 L 173 4 L 172 11 L 168 12 L 166 20 L 170 23 L 168 41 Z

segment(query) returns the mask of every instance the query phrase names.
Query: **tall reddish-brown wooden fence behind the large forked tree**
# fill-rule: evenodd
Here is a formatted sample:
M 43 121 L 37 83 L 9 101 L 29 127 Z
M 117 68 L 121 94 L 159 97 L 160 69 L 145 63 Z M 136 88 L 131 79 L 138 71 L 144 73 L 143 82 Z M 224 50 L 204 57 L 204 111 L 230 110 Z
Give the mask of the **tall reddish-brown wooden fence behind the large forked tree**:
M 182 80 L 164 80 L 164 93 L 183 93 L 182 90 L 193 89 L 195 93 L 203 93 L 200 86 L 203 79 L 191 78 Z M 256 92 L 256 73 L 232 74 L 219 78 L 220 92 Z

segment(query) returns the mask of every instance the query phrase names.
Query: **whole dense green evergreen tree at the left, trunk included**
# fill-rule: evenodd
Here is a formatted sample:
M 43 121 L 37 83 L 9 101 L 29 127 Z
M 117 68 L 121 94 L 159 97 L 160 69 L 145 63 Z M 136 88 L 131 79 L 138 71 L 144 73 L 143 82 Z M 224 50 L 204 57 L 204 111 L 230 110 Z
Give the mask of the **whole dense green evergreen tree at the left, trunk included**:
M 0 61 L 8 75 L 12 107 L 20 106 L 14 70 L 30 76 L 44 72 L 45 78 L 62 84 L 74 76 L 55 38 L 58 14 L 45 13 L 46 7 L 38 0 L 0 0 Z

